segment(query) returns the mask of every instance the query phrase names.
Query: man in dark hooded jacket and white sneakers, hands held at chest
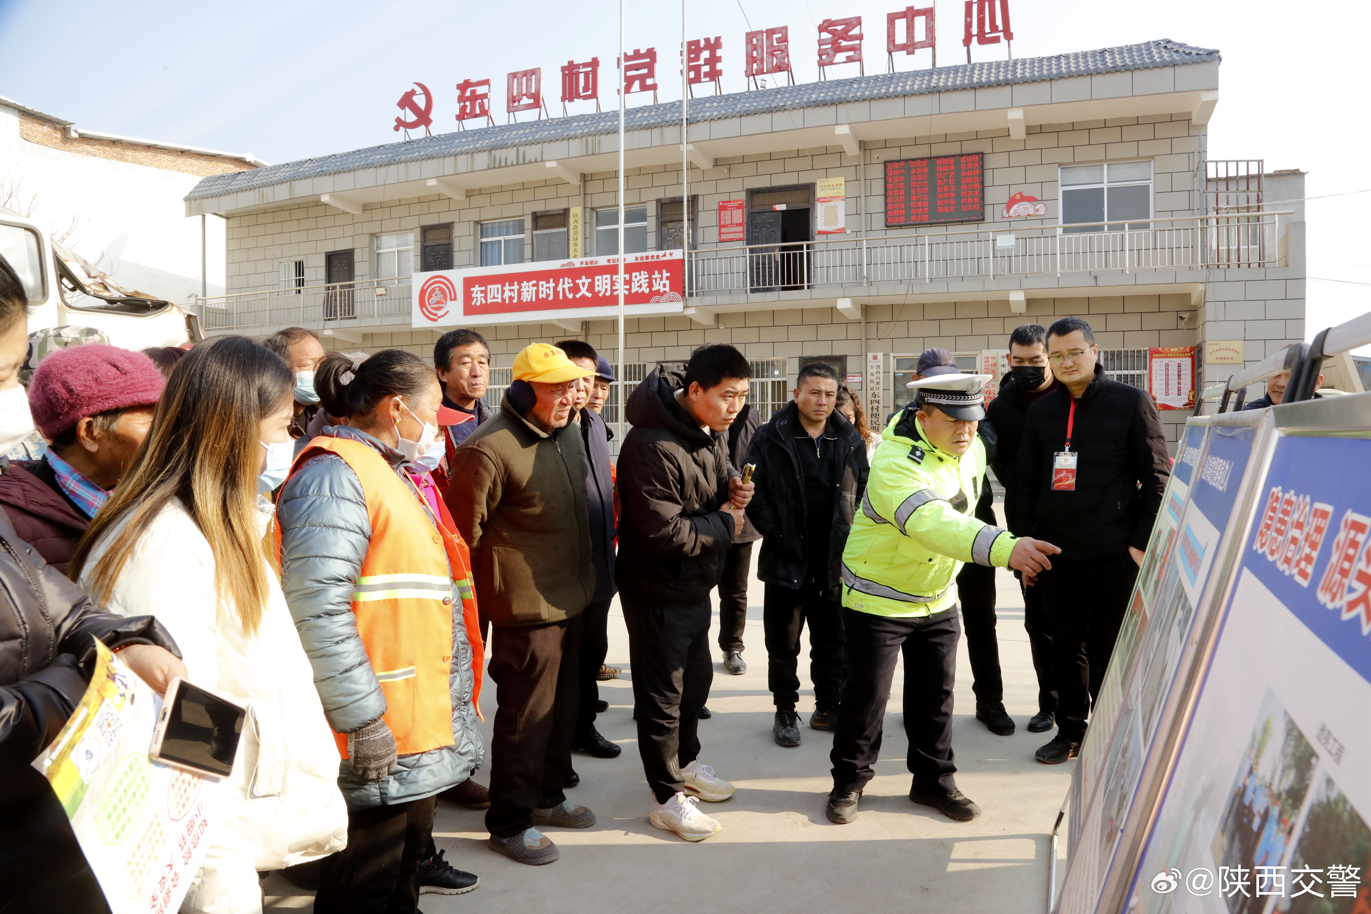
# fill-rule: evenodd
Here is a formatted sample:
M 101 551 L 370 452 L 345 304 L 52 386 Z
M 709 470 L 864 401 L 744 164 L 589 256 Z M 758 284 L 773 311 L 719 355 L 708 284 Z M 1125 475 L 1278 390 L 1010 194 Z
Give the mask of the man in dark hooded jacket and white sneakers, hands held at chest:
M 628 397 L 618 452 L 620 603 L 633 665 L 638 750 L 654 804 L 648 822 L 701 841 L 720 829 L 695 799 L 733 785 L 701 765 L 698 721 L 714 677 L 709 592 L 724 571 L 753 484 L 728 463 L 724 432 L 747 399 L 751 367 L 731 345 L 691 355 L 684 378 L 657 366 Z

